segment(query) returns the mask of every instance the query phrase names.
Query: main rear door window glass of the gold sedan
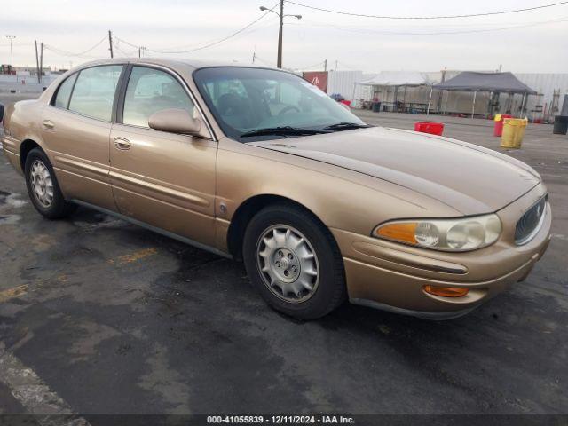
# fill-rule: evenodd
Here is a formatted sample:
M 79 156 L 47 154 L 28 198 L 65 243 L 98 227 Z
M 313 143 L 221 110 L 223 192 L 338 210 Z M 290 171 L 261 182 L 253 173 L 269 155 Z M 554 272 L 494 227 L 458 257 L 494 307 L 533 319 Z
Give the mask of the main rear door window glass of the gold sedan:
M 83 69 L 77 77 L 69 110 L 110 122 L 114 92 L 121 72 L 122 65 Z

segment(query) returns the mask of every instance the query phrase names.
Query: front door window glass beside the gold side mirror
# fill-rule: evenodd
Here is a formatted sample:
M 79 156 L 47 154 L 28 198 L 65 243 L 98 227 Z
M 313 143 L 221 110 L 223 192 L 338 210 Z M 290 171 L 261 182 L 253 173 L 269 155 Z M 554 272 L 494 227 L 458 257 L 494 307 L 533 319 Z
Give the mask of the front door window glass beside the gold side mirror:
M 193 102 L 176 78 L 155 68 L 132 67 L 122 122 L 148 127 L 150 115 L 170 108 L 185 109 L 194 116 Z

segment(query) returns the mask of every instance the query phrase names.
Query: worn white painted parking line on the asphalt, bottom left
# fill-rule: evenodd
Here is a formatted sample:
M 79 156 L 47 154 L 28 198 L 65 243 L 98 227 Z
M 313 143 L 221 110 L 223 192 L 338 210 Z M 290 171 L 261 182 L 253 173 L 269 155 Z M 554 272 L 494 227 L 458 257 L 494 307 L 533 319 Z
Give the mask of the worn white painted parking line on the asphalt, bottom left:
M 43 383 L 34 370 L 7 351 L 2 342 L 0 378 L 26 409 L 26 414 L 33 414 L 42 426 L 90 426 L 83 417 L 74 414 L 71 406 Z

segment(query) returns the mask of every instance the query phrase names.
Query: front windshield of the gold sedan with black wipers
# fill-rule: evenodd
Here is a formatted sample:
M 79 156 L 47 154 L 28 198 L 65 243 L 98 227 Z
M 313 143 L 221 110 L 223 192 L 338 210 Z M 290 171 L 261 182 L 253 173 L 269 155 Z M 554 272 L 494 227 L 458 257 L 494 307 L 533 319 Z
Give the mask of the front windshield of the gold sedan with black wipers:
M 366 127 L 297 75 L 252 67 L 209 67 L 193 73 L 201 96 L 229 138 L 248 142 Z

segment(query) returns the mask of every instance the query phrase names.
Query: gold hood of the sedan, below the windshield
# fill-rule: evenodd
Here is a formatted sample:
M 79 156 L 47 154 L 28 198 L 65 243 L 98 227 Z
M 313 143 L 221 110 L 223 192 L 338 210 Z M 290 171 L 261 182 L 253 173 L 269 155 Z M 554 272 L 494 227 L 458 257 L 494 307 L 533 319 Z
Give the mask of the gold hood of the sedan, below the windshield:
M 540 183 L 534 170 L 508 155 L 409 130 L 374 127 L 250 145 L 377 177 L 464 215 L 497 211 Z

